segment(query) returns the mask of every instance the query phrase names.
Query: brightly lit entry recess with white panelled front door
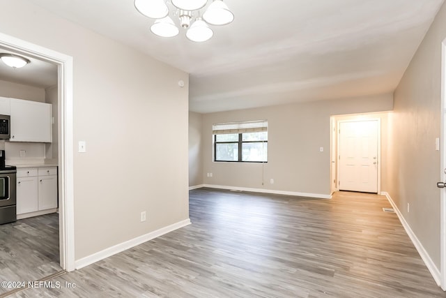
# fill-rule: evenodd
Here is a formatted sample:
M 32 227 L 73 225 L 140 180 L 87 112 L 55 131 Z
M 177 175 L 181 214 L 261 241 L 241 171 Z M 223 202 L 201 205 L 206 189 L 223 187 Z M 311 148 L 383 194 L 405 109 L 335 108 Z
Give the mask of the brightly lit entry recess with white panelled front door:
M 386 151 L 381 149 L 388 112 L 335 115 L 330 118 L 330 189 L 381 192 Z

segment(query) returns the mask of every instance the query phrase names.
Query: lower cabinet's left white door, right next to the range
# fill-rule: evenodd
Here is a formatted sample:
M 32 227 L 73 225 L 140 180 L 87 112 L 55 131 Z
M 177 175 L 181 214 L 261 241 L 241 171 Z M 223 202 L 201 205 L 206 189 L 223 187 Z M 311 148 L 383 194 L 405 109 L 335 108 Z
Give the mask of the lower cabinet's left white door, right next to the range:
M 17 214 L 38 211 L 37 177 L 17 178 Z

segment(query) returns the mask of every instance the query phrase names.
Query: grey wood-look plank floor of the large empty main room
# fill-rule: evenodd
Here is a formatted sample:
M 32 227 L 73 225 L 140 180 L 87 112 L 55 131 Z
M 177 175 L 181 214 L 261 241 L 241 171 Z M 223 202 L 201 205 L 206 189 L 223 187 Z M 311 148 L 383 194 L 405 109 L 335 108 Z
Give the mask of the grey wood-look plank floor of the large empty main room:
M 13 297 L 446 297 L 383 207 L 201 188 L 192 225 Z

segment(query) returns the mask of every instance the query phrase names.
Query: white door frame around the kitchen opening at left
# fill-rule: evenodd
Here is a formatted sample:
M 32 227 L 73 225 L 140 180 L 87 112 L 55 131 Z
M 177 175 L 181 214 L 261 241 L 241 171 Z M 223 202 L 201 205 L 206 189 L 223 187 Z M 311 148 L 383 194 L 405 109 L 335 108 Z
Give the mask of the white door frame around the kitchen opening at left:
M 58 66 L 59 253 L 61 267 L 72 271 L 75 269 L 72 57 L 3 33 L 0 33 L 0 46 Z

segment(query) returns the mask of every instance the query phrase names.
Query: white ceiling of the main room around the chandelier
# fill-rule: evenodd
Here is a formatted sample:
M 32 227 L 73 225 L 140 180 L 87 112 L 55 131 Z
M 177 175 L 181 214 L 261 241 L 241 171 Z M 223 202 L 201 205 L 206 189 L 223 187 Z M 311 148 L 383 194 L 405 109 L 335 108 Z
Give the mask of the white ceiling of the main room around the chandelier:
M 29 1 L 185 70 L 190 110 L 216 112 L 392 92 L 444 0 L 225 0 L 206 43 L 154 36 L 133 0 Z

